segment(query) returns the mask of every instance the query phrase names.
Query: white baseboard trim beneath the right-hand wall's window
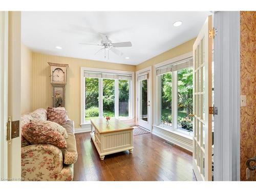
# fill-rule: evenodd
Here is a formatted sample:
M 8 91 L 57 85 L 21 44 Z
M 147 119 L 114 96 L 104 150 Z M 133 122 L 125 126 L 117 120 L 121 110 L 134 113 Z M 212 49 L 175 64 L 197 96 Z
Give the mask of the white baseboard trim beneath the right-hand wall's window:
M 152 134 L 157 135 L 158 137 L 161 137 L 169 142 L 172 142 L 182 148 L 185 148 L 185 150 L 189 152 L 193 152 L 193 141 L 191 139 L 166 131 L 157 126 L 153 126 Z

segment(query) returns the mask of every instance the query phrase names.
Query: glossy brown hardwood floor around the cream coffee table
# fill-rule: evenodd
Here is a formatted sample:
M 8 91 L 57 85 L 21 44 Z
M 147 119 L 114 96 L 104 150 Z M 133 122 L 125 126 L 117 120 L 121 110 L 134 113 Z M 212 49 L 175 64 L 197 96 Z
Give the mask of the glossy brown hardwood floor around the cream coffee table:
M 107 155 L 100 160 L 90 133 L 76 134 L 78 152 L 74 181 L 195 181 L 192 154 L 169 146 L 151 133 L 136 135 L 133 154 Z

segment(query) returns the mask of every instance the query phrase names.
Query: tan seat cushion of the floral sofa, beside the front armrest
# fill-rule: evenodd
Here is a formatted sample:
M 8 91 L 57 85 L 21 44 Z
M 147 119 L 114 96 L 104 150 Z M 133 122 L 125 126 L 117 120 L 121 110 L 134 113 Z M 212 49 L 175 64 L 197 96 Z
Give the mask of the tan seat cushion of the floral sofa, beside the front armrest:
M 76 150 L 76 138 L 74 134 L 69 133 L 69 137 L 66 139 L 67 148 L 61 150 L 63 154 L 64 163 L 69 165 L 73 164 L 77 160 L 77 150 Z

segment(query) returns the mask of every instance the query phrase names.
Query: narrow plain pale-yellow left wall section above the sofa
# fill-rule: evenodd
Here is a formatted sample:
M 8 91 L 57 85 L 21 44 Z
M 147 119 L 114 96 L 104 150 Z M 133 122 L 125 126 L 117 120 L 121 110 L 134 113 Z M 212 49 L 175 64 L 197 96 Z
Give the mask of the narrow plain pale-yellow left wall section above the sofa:
M 32 52 L 28 47 L 22 44 L 22 66 L 21 66 L 21 111 L 22 114 L 32 110 Z

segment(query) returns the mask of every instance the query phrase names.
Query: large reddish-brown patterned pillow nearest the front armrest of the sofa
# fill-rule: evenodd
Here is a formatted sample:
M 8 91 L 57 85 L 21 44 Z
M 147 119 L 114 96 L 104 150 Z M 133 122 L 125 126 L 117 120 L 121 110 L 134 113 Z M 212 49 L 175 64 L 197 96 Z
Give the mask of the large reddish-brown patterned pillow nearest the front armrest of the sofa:
M 22 130 L 22 136 L 31 144 L 52 144 L 58 148 L 67 148 L 66 139 L 54 129 L 44 124 L 31 122 Z

